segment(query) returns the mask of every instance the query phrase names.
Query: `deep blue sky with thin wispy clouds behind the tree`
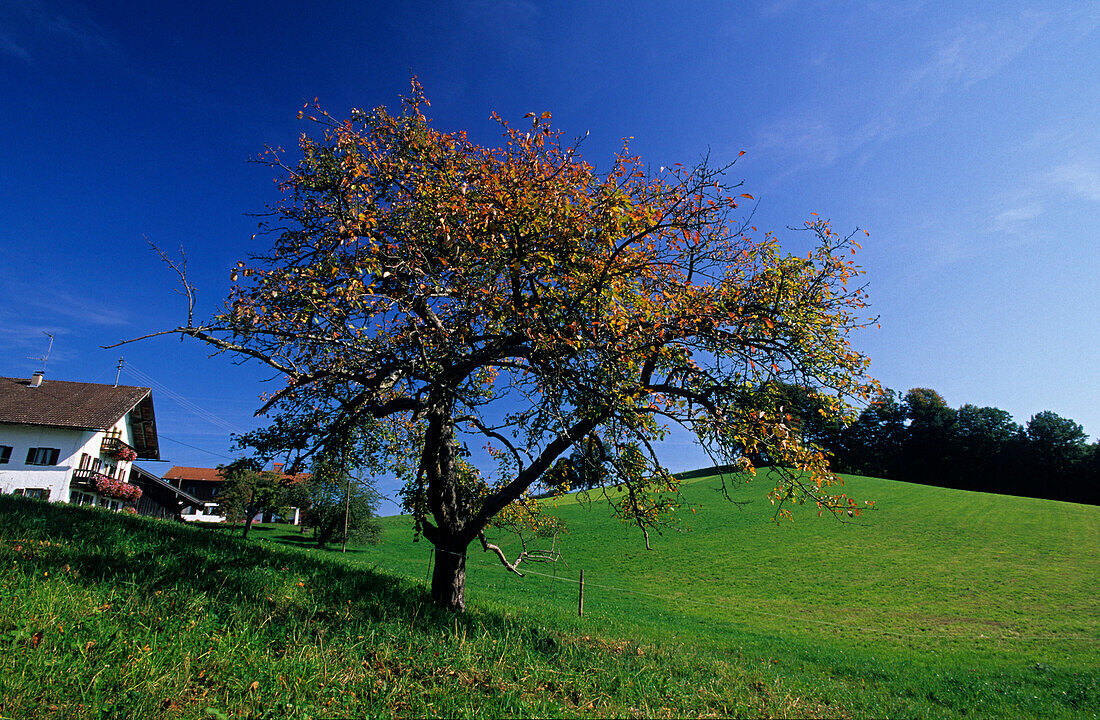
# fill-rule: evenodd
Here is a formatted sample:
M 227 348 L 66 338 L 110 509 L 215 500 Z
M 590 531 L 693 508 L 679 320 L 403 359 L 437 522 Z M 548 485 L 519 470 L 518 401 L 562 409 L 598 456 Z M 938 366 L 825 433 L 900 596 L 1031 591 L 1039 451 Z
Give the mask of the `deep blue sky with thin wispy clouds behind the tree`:
M 113 381 L 123 355 L 164 457 L 223 462 L 262 368 L 100 348 L 185 320 L 147 243 L 185 250 L 210 314 L 276 198 L 248 160 L 294 145 L 304 101 L 393 106 L 410 73 L 486 144 L 492 111 L 549 110 L 597 166 L 625 136 L 653 166 L 745 151 L 758 226 L 869 231 L 882 326 L 857 345 L 883 384 L 1100 435 L 1094 2 L 0 0 L 0 375 L 37 369 L 44 331 L 47 381 Z

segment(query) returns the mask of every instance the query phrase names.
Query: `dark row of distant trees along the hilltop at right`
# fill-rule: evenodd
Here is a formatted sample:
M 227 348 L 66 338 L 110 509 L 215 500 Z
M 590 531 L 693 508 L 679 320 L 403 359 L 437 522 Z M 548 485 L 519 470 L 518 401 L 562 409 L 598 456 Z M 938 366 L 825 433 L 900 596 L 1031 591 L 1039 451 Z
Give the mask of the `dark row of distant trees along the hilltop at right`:
M 999 408 L 952 408 L 935 390 L 884 390 L 855 421 L 824 420 L 828 398 L 783 386 L 791 421 L 839 473 L 1100 505 L 1100 444 L 1049 410 L 1021 425 Z M 767 458 L 760 458 L 767 459 Z

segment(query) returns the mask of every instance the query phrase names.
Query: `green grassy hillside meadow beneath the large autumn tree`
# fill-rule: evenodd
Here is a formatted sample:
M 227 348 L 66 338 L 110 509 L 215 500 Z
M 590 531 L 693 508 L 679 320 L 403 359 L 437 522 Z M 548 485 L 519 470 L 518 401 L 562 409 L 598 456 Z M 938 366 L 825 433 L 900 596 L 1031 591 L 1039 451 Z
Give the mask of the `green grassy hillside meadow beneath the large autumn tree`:
M 1100 508 L 850 478 L 877 510 L 777 525 L 766 481 L 688 480 L 650 551 L 563 498 L 462 617 L 407 518 L 341 555 L 2 497 L 0 717 L 1100 715 Z

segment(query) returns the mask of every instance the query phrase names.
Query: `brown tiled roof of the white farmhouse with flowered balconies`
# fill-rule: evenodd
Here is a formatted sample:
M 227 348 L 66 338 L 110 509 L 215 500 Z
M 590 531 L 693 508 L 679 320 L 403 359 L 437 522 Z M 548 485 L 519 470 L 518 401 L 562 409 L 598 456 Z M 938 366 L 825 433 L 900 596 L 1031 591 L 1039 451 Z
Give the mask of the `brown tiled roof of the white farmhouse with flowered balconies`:
M 0 377 L 0 422 L 108 430 L 147 397 L 148 388 Z

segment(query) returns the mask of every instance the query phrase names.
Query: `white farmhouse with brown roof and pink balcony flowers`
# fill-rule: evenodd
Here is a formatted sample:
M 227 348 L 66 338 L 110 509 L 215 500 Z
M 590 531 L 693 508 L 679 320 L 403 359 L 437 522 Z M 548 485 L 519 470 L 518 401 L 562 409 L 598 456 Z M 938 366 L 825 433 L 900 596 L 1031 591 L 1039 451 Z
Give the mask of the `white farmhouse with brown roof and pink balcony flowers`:
M 0 492 L 120 510 L 139 458 L 160 459 L 150 388 L 0 377 Z

